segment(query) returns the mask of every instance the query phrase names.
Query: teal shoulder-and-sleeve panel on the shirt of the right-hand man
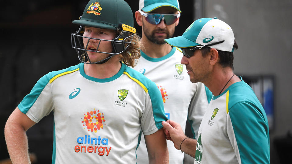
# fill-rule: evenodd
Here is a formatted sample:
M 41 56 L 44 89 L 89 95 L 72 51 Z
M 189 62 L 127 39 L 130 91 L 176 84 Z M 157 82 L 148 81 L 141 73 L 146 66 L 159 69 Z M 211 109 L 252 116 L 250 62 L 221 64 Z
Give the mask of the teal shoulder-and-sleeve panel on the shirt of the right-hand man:
M 262 105 L 244 81 L 228 90 L 229 115 L 242 163 L 269 163 L 269 125 Z

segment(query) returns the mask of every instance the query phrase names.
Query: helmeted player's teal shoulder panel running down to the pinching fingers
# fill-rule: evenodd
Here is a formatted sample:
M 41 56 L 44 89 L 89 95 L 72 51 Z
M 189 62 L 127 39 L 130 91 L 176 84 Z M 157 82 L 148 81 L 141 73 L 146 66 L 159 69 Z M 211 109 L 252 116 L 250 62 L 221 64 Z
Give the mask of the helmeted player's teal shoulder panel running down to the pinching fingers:
M 140 81 L 147 89 L 148 94 L 151 99 L 152 103 L 152 110 L 153 110 L 153 117 L 155 121 L 155 125 L 158 129 L 162 128 L 162 121 L 168 120 L 168 118 L 165 116 L 164 112 L 164 106 L 163 106 L 163 100 L 161 93 L 159 92 L 158 87 L 154 82 L 149 80 L 147 77 L 145 77 L 143 74 L 139 73 L 136 70 L 133 70 L 130 67 L 126 66 L 125 71 L 133 78 Z

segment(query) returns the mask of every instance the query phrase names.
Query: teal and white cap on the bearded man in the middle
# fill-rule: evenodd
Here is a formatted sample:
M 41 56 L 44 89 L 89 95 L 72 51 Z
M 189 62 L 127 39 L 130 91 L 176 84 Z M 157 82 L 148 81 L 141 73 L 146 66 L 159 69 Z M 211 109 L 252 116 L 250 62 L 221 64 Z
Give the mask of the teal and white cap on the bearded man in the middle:
M 179 12 L 179 0 L 140 0 L 139 9 L 144 12 L 151 12 L 162 6 L 170 6 L 176 8 Z

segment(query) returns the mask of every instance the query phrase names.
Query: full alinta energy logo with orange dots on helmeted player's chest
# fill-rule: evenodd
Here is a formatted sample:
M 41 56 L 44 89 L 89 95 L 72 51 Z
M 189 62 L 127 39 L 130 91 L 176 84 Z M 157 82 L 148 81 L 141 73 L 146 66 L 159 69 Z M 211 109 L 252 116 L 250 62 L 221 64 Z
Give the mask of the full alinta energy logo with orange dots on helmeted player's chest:
M 87 127 L 88 132 L 97 132 L 97 130 L 103 129 L 103 126 L 106 125 L 104 122 L 103 113 L 100 113 L 99 110 L 87 112 L 84 114 L 84 118 L 82 118 L 84 127 Z M 85 129 L 85 128 L 84 128 Z M 94 133 L 93 133 L 94 135 Z M 90 137 L 90 135 L 84 135 L 81 137 L 77 137 L 77 145 L 74 146 L 75 152 L 82 152 L 82 153 L 97 153 L 100 156 L 109 155 L 110 150 L 112 147 L 109 145 L 108 138 L 102 138 L 101 136 Z

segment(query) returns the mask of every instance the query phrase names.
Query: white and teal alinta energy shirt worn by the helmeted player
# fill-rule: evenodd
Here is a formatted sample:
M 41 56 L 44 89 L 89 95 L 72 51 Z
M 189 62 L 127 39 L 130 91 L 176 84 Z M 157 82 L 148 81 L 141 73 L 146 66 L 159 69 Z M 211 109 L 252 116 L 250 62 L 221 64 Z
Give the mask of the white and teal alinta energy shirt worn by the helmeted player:
M 52 163 L 136 163 L 142 132 L 167 120 L 156 84 L 125 64 L 106 79 L 84 63 L 50 72 L 18 108 L 35 122 L 54 112 Z

